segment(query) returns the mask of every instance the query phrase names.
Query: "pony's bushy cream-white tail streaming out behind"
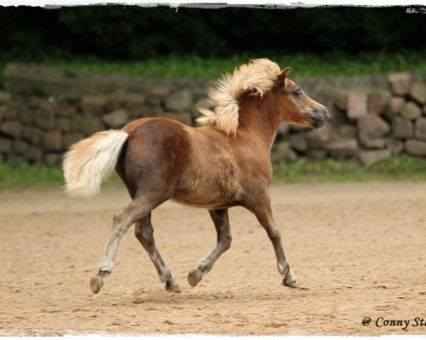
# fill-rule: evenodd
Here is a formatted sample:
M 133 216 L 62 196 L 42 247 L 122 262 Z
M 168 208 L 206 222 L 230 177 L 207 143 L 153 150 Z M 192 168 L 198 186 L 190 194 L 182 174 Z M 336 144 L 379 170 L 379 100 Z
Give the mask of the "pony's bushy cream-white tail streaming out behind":
M 99 193 L 102 179 L 114 170 L 127 137 L 122 130 L 102 131 L 72 145 L 62 164 L 67 193 L 84 198 Z

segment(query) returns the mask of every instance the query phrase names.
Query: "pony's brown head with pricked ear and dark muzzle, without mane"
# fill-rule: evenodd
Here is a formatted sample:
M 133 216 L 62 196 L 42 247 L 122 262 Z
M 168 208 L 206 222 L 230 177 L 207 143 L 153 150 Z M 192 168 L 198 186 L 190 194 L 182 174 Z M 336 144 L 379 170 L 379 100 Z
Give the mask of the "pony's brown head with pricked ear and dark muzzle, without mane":
M 307 96 L 294 81 L 288 79 L 289 71 L 290 67 L 287 67 L 280 72 L 271 90 L 280 120 L 308 128 L 322 128 L 329 120 L 327 108 Z

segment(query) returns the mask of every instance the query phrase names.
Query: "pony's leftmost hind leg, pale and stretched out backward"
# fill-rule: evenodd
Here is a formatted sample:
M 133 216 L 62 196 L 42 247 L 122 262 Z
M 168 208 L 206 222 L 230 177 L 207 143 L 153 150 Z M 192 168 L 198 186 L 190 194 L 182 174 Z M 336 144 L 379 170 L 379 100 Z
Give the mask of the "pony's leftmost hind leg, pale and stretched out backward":
M 129 229 L 131 225 L 137 220 L 148 215 L 148 213 L 155 207 L 148 203 L 147 200 L 134 199 L 114 214 L 114 220 L 109 234 L 109 241 L 107 244 L 107 250 L 104 254 L 104 259 L 99 263 L 99 271 L 97 275 L 90 278 L 90 289 L 93 293 L 99 293 L 99 290 L 104 285 L 109 274 L 111 274 L 114 268 L 114 259 L 116 258 L 117 250 L 119 249 L 119 243 L 121 237 Z

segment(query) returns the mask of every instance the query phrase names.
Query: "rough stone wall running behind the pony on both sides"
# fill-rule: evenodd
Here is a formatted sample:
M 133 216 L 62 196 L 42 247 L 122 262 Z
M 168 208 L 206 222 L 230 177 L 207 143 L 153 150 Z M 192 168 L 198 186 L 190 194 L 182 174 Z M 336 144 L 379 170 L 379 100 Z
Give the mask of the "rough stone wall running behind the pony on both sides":
M 426 156 L 424 74 L 295 79 L 329 108 L 321 130 L 280 125 L 273 162 Z M 214 107 L 212 81 L 72 74 L 10 64 L 0 90 L 0 162 L 62 162 L 72 143 L 140 117 L 163 116 L 195 125 L 197 108 Z

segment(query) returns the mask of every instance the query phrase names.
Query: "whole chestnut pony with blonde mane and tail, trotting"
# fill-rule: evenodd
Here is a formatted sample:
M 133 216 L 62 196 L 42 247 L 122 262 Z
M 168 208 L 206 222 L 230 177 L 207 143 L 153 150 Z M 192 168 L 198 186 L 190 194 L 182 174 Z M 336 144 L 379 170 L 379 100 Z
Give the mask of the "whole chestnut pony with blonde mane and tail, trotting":
M 94 133 L 65 154 L 66 190 L 89 197 L 115 167 L 131 203 L 114 214 L 107 250 L 90 288 L 98 293 L 111 274 L 119 242 L 135 225 L 135 235 L 153 261 L 165 290 L 180 293 L 177 280 L 158 253 L 151 211 L 166 200 L 207 208 L 217 231 L 217 246 L 190 271 L 195 286 L 231 245 L 228 209 L 241 205 L 256 215 L 273 244 L 283 285 L 297 288 L 272 217 L 268 186 L 270 152 L 280 123 L 321 128 L 327 108 L 308 97 L 268 59 L 252 60 L 225 74 L 209 96 L 214 111 L 200 110 L 191 128 L 168 118 L 141 118 L 121 130 Z

